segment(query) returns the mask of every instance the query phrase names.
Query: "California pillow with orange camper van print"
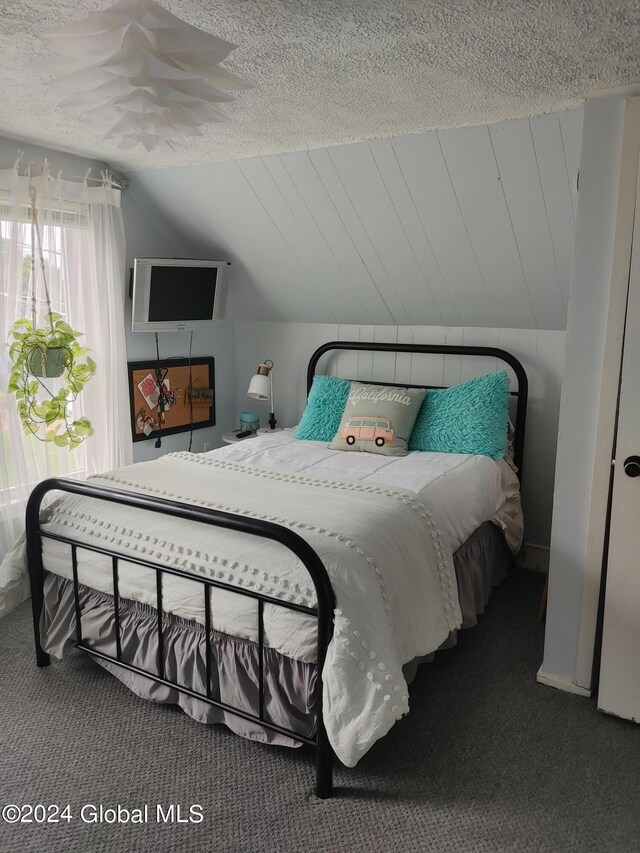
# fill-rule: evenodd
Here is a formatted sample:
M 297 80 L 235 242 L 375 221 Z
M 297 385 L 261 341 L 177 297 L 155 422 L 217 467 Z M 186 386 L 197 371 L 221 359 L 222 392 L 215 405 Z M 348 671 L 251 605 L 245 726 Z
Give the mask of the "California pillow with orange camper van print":
M 404 456 L 426 393 L 424 388 L 352 382 L 342 421 L 329 447 Z

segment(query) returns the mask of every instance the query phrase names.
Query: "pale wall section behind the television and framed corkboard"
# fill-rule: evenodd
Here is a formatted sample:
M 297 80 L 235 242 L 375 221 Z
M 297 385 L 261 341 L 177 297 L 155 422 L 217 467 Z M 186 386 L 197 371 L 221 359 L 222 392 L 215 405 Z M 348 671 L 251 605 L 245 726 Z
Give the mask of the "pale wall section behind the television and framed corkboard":
M 207 248 L 199 246 L 192 237 L 180 231 L 181 211 L 176 209 L 175 219 L 167 221 L 152 203 L 137 194 L 136 176 L 131 180 L 131 189 L 122 195 L 122 212 L 127 239 L 127 268 L 133 266 L 135 257 L 211 257 Z M 131 331 L 131 300 L 129 282 L 125 284 L 125 323 L 127 328 L 127 359 L 138 361 L 155 359 L 155 335 L 150 332 Z M 179 294 L 177 294 L 179 298 Z M 189 354 L 189 332 L 162 332 L 159 334 L 160 357 L 187 357 Z M 216 426 L 197 429 L 193 432 L 192 451 L 199 452 L 204 443 L 219 446 L 220 435 L 228 429 L 235 401 L 234 324 L 225 321 L 207 331 L 194 332 L 194 356 L 213 356 L 215 360 Z M 162 447 L 155 448 L 155 437 L 138 441 L 133 445 L 135 462 L 153 459 L 163 453 L 186 450 L 189 433 L 178 433 L 162 438 Z

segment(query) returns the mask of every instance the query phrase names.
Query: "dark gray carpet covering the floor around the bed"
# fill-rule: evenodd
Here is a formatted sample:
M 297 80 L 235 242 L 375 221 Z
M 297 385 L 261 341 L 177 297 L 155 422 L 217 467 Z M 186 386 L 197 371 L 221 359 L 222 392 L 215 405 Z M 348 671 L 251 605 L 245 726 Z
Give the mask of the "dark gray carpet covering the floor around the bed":
M 306 749 L 138 699 L 80 652 L 38 670 L 23 606 L 0 622 L 0 801 L 70 803 L 74 819 L 0 823 L 0 851 L 640 850 L 640 729 L 536 684 L 541 580 L 520 571 L 495 591 L 324 802 Z M 83 824 L 87 803 L 197 803 L 204 821 Z

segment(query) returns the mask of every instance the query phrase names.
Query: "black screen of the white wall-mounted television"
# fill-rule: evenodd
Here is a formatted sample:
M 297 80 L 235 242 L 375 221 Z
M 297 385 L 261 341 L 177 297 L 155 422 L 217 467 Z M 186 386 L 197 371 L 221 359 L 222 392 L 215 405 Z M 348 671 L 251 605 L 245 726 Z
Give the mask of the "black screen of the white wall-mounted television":
M 153 267 L 149 322 L 211 320 L 217 272 L 207 267 Z

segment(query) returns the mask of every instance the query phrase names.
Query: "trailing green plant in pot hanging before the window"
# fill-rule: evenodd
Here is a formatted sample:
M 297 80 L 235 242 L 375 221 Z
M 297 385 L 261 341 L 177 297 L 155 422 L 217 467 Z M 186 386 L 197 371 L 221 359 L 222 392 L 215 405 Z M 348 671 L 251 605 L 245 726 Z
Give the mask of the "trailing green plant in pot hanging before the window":
M 85 417 L 73 419 L 71 405 L 96 371 L 96 363 L 81 346 L 82 332 L 74 331 L 61 314 L 51 310 L 47 275 L 36 213 L 35 188 L 31 201 L 31 319 L 20 317 L 9 329 L 9 391 L 15 394 L 18 414 L 26 435 L 52 441 L 72 450 L 93 434 Z M 35 281 L 36 241 L 47 313 L 37 324 Z M 61 379 L 50 390 L 43 378 Z

